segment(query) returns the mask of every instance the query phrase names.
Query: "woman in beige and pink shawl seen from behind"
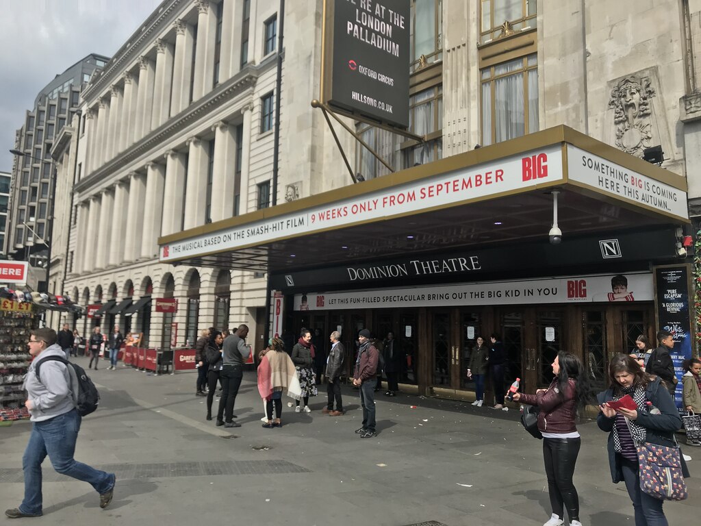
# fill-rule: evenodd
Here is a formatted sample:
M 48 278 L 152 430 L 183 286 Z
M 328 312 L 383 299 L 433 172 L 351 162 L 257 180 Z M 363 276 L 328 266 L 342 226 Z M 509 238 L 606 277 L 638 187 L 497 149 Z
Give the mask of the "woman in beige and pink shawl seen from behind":
M 297 370 L 290 355 L 285 352 L 285 344 L 280 338 L 273 338 L 266 351 L 261 352 L 258 365 L 258 392 L 266 402 L 266 429 L 282 427 L 280 416 L 283 412 L 283 391 L 287 396 L 299 400 L 301 388 L 297 378 Z M 273 420 L 273 404 L 275 419 Z

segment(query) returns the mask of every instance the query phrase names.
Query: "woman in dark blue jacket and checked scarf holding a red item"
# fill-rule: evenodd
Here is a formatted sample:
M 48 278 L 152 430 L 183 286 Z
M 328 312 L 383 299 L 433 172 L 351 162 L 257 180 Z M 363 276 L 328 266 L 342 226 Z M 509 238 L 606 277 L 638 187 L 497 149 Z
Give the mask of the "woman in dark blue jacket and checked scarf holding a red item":
M 635 526 L 667 526 L 662 500 L 640 489 L 636 441 L 675 447 L 674 431 L 681 427 L 681 417 L 672 396 L 660 377 L 652 379 L 634 358 L 619 354 L 608 365 L 611 387 L 599 393 L 597 424 L 608 433 L 608 464 L 613 483 L 623 481 L 633 501 Z M 608 407 L 608 402 L 630 395 L 636 409 Z M 648 402 L 651 403 L 648 406 Z M 659 410 L 655 414 L 653 408 Z M 626 422 L 626 419 L 628 422 Z M 682 468 L 686 464 L 682 459 Z

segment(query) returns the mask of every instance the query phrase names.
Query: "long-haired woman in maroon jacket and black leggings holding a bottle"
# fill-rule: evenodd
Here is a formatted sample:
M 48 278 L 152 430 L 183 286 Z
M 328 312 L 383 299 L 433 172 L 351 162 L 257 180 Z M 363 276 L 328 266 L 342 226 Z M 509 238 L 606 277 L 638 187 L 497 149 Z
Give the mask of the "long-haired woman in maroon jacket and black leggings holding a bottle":
M 579 496 L 572 482 L 581 439 L 575 423 L 589 399 L 589 385 L 579 358 L 560 351 L 552 363 L 555 377 L 536 394 L 515 393 L 514 400 L 538 405 L 538 429 L 543 433 L 543 458 L 552 515 L 543 526 L 564 525 L 564 507 L 571 526 L 579 520 Z

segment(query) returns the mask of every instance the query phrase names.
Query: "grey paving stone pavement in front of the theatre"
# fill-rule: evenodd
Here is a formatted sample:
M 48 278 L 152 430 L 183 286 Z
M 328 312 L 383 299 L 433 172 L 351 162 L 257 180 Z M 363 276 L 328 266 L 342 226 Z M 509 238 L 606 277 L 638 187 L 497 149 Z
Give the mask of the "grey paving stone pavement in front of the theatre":
M 223 429 L 205 421 L 192 373 L 118 367 L 90 375 L 102 400 L 83 419 L 76 459 L 117 473 L 114 501 L 100 510 L 92 488 L 46 461 L 42 525 L 540 526 L 550 516 L 540 441 L 523 431 L 517 411 L 377 393 L 379 434 L 360 439 L 358 391 L 344 388 L 342 417 L 322 414 L 320 393 L 311 414 L 283 403 L 283 427 L 263 429 L 254 372 L 246 372 L 234 411 L 242 426 Z M 583 524 L 632 524 L 625 487 L 608 473 L 606 433 L 593 421 L 579 429 Z M 0 428 L 0 511 L 22 499 L 28 435 L 25 422 Z M 665 504 L 670 525 L 701 515 L 701 449 L 686 452 L 696 477 L 687 479 L 688 500 Z

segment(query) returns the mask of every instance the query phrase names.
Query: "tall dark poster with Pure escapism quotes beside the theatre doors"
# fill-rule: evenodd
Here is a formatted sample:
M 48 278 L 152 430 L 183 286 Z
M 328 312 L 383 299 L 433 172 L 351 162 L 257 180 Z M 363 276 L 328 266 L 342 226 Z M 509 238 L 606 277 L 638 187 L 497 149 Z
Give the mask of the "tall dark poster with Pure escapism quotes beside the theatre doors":
M 690 269 L 688 265 L 655 267 L 655 311 L 658 330 L 668 330 L 674 337 L 674 349 L 670 352 L 674 362 L 676 384 L 674 401 L 681 407 L 682 363 L 691 358 L 693 335 L 689 310 Z

